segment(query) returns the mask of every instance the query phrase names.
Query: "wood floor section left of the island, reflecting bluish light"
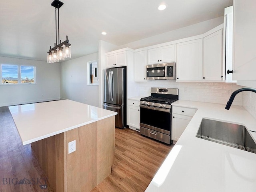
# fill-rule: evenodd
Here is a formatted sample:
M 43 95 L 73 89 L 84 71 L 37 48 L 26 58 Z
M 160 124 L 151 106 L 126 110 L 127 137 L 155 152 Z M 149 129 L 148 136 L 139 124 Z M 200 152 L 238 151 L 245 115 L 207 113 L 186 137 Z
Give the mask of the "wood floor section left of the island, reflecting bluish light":
M 51 192 L 40 188 L 47 182 L 30 144 L 22 145 L 8 107 L 0 107 L 0 192 Z

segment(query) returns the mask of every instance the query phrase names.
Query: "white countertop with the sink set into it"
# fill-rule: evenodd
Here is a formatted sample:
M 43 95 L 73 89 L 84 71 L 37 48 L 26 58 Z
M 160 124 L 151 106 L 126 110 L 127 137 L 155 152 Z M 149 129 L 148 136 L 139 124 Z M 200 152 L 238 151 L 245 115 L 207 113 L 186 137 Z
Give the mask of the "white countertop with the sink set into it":
M 201 138 L 202 118 L 231 122 L 256 131 L 256 119 L 242 106 L 178 100 L 173 106 L 197 108 L 196 114 L 146 192 L 255 192 L 256 154 Z M 250 132 L 254 140 L 256 133 Z

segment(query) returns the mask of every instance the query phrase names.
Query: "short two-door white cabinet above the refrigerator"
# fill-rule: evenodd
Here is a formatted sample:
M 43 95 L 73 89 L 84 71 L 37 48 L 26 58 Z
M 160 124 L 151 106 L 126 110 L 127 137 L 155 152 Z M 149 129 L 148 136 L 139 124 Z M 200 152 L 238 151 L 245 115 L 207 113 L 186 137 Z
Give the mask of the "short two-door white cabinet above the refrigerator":
M 126 66 L 126 51 L 106 55 L 108 68 Z

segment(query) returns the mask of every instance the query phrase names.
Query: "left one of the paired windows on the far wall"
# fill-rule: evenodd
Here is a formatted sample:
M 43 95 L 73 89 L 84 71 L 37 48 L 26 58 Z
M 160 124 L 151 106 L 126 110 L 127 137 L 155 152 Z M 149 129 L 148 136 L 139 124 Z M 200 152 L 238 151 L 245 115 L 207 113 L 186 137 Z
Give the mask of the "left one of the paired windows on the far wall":
M 2 83 L 18 83 L 18 65 L 2 64 Z

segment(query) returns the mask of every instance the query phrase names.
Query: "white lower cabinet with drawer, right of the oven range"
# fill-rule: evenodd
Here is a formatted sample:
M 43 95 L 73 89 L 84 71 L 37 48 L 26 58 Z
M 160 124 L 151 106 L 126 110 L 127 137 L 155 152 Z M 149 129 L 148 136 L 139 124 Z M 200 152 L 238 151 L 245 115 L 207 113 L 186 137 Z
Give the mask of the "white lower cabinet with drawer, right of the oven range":
M 172 140 L 174 142 L 178 141 L 195 113 L 195 108 L 172 106 Z

